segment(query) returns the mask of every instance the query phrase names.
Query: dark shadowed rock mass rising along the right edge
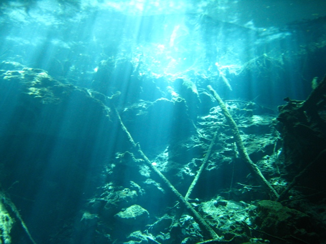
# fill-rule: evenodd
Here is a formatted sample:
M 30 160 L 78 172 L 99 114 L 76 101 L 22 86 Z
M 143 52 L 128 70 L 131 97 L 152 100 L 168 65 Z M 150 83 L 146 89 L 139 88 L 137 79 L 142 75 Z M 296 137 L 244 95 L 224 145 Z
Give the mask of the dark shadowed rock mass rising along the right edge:
M 284 143 L 285 178 L 292 180 L 282 195 L 295 185 L 311 195 L 311 201 L 319 201 L 324 195 L 326 171 L 326 77 L 314 86 L 306 101 L 286 98 L 277 119 Z

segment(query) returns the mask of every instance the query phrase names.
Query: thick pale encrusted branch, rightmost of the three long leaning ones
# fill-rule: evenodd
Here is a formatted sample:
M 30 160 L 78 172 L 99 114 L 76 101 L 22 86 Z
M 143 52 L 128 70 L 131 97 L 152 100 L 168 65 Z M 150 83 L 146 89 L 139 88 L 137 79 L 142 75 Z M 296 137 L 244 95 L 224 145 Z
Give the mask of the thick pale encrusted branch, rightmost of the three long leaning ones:
M 224 102 L 220 98 L 219 94 L 216 93 L 215 90 L 210 85 L 208 85 L 207 87 L 213 93 L 215 99 L 218 101 L 218 103 L 219 103 L 219 105 L 220 105 L 220 107 L 222 109 L 222 112 L 223 112 L 223 114 L 224 114 L 224 116 L 226 118 L 226 121 L 229 124 L 229 126 L 231 127 L 231 130 L 232 130 L 232 133 L 233 133 L 233 136 L 234 136 L 234 139 L 235 139 L 235 144 L 236 144 L 236 146 L 238 148 L 240 158 L 244 161 L 244 163 L 247 164 L 247 166 L 249 167 L 252 174 L 255 175 L 255 177 L 260 181 L 260 183 L 263 185 L 263 187 L 265 187 L 268 190 L 268 192 L 271 195 L 271 198 L 277 199 L 279 197 L 279 194 L 275 191 L 275 189 L 265 179 L 265 177 L 260 172 L 257 165 L 255 165 L 254 162 L 251 161 L 251 159 L 249 158 L 247 150 L 244 147 L 242 139 L 240 137 L 238 127 L 235 124 L 235 121 L 233 120 L 233 118 L 232 118 L 231 114 L 229 113 L 228 109 L 226 108 Z

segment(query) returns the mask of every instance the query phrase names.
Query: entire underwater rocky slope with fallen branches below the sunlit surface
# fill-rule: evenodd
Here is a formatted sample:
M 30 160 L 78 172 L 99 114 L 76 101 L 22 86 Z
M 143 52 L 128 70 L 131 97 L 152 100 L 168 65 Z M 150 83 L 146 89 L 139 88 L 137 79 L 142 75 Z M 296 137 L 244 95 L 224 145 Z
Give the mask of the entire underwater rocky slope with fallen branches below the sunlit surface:
M 278 117 L 251 101 L 222 101 L 246 157 L 273 195 L 247 167 L 234 128 L 206 87 L 178 78 L 169 86 L 155 86 L 158 98 L 122 103 L 125 94 L 119 90 L 108 97 L 18 63 L 4 62 L 0 68 L 0 93 L 8 106 L 4 112 L 15 111 L 11 123 L 0 127 L 2 140 L 19 152 L 8 155 L 2 145 L 3 162 L 26 160 L 19 156 L 20 143 L 37 140 L 28 154 L 33 167 L 20 175 L 23 182 L 37 185 L 42 181 L 31 175 L 41 174 L 46 162 L 40 145 L 50 151 L 53 141 L 65 142 L 57 160 L 68 158 L 69 165 L 56 168 L 62 183 L 53 179 L 45 188 L 53 202 L 66 206 L 58 189 L 69 186 L 72 200 L 61 209 L 59 223 L 49 228 L 48 243 L 71 238 L 129 244 L 326 239 L 324 220 L 317 214 L 323 178 L 316 172 L 324 172 L 325 80 L 306 101 L 287 99 Z M 12 101 L 19 110 L 11 109 Z M 107 152 L 113 142 L 114 151 Z M 97 148 L 95 160 L 88 147 Z M 83 164 L 91 160 L 94 167 Z M 9 182 L 14 169 L 14 164 L 4 167 L 4 181 Z M 84 192 L 79 189 L 85 181 L 89 186 Z M 301 187 L 316 192 L 308 196 Z M 79 199 L 83 205 L 75 208 L 74 200 Z M 59 212 L 58 205 L 46 208 L 49 219 Z M 1 234 L 9 238 L 10 228 Z

